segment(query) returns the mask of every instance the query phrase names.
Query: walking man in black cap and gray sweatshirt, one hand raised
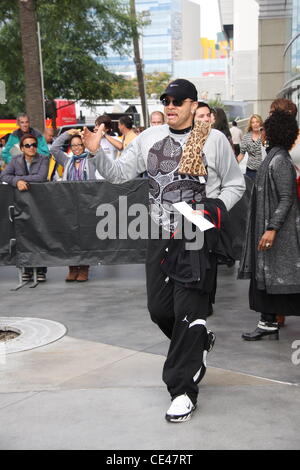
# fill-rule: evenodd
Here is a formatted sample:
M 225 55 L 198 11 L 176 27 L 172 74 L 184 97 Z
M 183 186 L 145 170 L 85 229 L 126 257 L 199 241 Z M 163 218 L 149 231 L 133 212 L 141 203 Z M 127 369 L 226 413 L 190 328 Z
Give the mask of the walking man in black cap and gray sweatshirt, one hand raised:
M 96 166 L 111 183 L 123 183 L 147 171 L 150 213 L 159 226 L 160 239 L 148 240 L 146 261 L 148 309 L 152 320 L 170 339 L 163 379 L 172 403 L 165 417 L 169 422 L 190 419 L 197 405 L 198 384 L 206 371 L 206 354 L 214 334 L 206 329 L 209 292 L 166 279 L 161 263 L 169 240 L 164 231 L 176 231 L 177 202 L 201 203 L 203 198 L 221 200 L 229 211 L 242 197 L 244 177 L 226 137 L 212 129 L 203 152 L 206 176 L 178 172 L 179 162 L 190 136 L 197 109 L 197 90 L 188 80 L 171 82 L 161 96 L 167 124 L 140 134 L 121 158 L 105 158 L 99 139 L 101 130 L 85 130 L 85 144 L 96 153 Z M 202 286 L 203 287 L 203 286 Z

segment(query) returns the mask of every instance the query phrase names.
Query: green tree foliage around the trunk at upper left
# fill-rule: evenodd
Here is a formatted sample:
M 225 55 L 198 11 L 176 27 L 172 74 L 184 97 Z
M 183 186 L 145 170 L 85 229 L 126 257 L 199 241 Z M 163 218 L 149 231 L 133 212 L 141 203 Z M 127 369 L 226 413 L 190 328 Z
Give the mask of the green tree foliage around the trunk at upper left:
M 0 114 L 24 108 L 24 70 L 17 0 L 1 0 L 0 79 L 7 104 Z M 36 0 L 40 23 L 44 88 L 47 99 L 112 98 L 119 78 L 98 58 L 109 50 L 128 53 L 132 20 L 122 0 Z

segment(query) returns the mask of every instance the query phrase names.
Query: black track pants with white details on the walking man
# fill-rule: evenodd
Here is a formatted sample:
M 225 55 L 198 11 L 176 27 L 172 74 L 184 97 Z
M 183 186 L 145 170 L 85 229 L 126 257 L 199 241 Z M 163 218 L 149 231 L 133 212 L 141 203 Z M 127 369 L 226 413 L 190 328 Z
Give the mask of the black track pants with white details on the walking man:
M 187 393 L 195 403 L 204 376 L 209 294 L 166 282 L 161 270 L 166 240 L 149 240 L 146 262 L 148 309 L 152 320 L 171 340 L 163 380 L 172 399 Z

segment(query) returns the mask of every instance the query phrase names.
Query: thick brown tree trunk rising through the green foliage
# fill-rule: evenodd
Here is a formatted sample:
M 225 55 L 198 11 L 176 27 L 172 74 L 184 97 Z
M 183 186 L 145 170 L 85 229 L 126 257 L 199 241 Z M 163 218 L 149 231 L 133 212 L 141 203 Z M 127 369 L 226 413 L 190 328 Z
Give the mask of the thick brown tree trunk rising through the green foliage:
M 33 127 L 44 130 L 44 105 L 40 71 L 35 0 L 19 0 L 25 105 Z

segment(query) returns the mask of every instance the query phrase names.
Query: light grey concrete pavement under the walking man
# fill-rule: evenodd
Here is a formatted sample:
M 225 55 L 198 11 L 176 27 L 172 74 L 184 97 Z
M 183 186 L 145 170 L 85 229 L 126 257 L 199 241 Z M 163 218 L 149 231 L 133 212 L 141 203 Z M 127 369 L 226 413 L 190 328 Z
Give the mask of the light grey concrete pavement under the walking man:
M 291 357 L 300 319 L 287 319 L 280 341 L 242 341 L 257 316 L 235 269 L 220 269 L 208 322 L 216 345 L 198 408 L 177 425 L 164 419 L 168 341 L 147 312 L 144 267 L 92 268 L 86 284 L 66 284 L 65 274 L 50 268 L 45 284 L 11 292 L 16 270 L 0 267 L 0 316 L 68 329 L 0 362 L 0 449 L 299 449 L 300 365 Z

